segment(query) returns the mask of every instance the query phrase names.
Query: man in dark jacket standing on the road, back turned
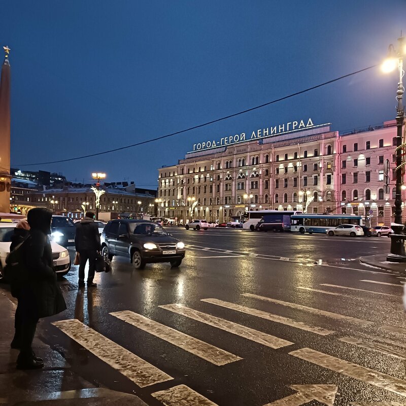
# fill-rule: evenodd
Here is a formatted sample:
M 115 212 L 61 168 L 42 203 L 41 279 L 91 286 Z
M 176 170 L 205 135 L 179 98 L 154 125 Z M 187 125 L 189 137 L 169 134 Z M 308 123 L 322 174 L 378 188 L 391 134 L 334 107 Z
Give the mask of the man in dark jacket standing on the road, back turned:
M 96 286 L 93 283 L 93 278 L 96 270 L 96 255 L 98 251 L 101 251 L 101 245 L 93 212 L 87 212 L 85 217 L 79 223 L 76 223 L 75 246 L 80 256 L 79 286 L 85 286 L 85 266 L 87 260 L 89 260 L 87 286 Z

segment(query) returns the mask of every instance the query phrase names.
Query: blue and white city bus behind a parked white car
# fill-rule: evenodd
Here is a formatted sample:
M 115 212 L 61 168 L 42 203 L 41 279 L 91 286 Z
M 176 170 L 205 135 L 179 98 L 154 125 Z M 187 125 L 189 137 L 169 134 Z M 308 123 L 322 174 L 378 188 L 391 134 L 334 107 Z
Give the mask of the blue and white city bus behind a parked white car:
M 362 217 L 351 214 L 296 214 L 290 217 L 290 231 L 304 234 L 305 232 L 319 232 L 325 234 L 327 230 L 340 224 L 362 224 Z

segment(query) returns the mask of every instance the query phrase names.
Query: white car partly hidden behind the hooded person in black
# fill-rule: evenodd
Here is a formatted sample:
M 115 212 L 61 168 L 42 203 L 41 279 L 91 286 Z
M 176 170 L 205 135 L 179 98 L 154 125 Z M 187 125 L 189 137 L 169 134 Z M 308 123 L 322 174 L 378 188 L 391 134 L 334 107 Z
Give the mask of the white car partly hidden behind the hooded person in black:
M 16 223 L 0 223 L 0 279 L 2 269 L 6 266 L 6 257 L 10 252 L 11 237 Z M 66 275 L 71 269 L 71 259 L 66 248 L 51 241 L 54 269 L 57 275 Z

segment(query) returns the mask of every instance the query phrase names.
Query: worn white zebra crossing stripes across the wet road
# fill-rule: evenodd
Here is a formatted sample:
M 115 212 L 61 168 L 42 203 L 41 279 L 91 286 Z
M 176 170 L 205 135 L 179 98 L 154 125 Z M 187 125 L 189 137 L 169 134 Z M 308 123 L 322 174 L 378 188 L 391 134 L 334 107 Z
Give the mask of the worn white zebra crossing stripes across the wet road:
M 402 286 L 400 283 L 388 284 L 386 282 L 370 280 L 364 280 L 364 282 L 371 282 L 386 286 Z M 400 307 L 400 296 L 393 294 L 352 288 L 351 286 L 320 284 L 320 287 L 321 286 L 330 288 L 332 290 L 318 289 L 317 286 L 312 288 L 306 286 L 297 286 L 296 288 L 298 290 L 310 290 L 315 292 L 315 294 L 328 294 L 333 297 L 343 296 L 346 297 L 346 300 L 360 299 L 359 294 L 361 294 L 361 292 L 363 295 L 366 295 L 366 297 L 374 297 L 374 300 L 393 300 L 392 297 L 398 297 L 397 304 Z M 387 288 L 389 288 L 389 286 Z M 343 293 L 343 291 L 346 293 Z M 386 299 L 386 297 L 388 297 L 388 299 Z M 269 334 L 268 332 L 260 331 L 260 329 L 252 328 L 249 326 L 249 320 L 250 318 L 252 318 L 252 320 L 261 319 L 264 320 L 265 323 L 277 323 L 277 325 L 288 326 L 289 328 L 292 328 L 293 331 L 306 331 L 308 333 L 315 334 L 315 336 L 320 338 L 330 337 L 330 340 L 333 340 L 336 345 L 351 346 L 354 349 L 360 349 L 362 351 L 370 352 L 371 354 L 380 354 L 381 356 L 384 355 L 389 359 L 398 359 L 400 361 L 406 360 L 406 354 L 404 353 L 404 348 L 406 348 L 406 346 L 401 341 L 406 338 L 406 329 L 391 325 L 379 325 L 371 320 L 363 320 L 350 315 L 328 312 L 322 309 L 304 306 L 300 303 L 288 302 L 274 297 L 262 296 L 250 292 L 241 293 L 241 298 L 243 302 L 243 299 L 247 298 L 251 300 L 250 303 L 256 304 L 252 304 L 252 307 L 248 307 L 244 304 L 229 302 L 220 298 L 204 297 L 199 299 L 198 303 L 201 302 L 202 304 L 205 304 L 205 306 L 206 304 L 209 305 L 209 307 L 205 307 L 205 309 L 209 309 L 209 311 L 206 312 L 194 309 L 193 307 L 187 307 L 182 303 L 160 304 L 157 306 L 157 308 L 183 318 L 183 323 L 187 323 L 187 320 L 191 320 L 201 323 L 202 325 L 207 326 L 207 328 L 225 331 L 226 333 L 241 337 L 242 339 L 248 340 L 256 345 L 269 348 L 270 351 L 280 351 L 292 359 L 305 361 L 309 364 L 317 365 L 318 367 L 333 371 L 336 374 L 347 376 L 354 380 L 363 382 L 364 384 L 384 389 L 387 392 L 399 396 L 401 399 L 403 399 L 403 402 L 406 402 L 406 380 L 388 375 L 383 371 L 375 370 L 365 365 L 353 363 L 349 360 L 317 351 L 316 349 L 306 346 L 307 343 L 301 343 L 299 340 L 295 340 L 296 342 L 293 342 L 293 340 L 287 340 L 286 336 L 278 337 L 276 335 Z M 261 306 L 259 306 L 260 303 Z M 297 312 L 299 316 L 295 315 L 294 317 L 288 318 L 272 313 L 270 308 L 267 311 L 259 309 L 259 307 L 262 309 L 267 307 L 267 304 L 272 305 L 273 312 L 275 312 L 275 309 L 279 307 L 282 309 L 289 308 L 294 312 Z M 228 320 L 227 318 L 221 318 L 212 314 L 216 313 L 216 309 L 226 309 L 227 312 L 231 312 L 231 314 L 232 312 L 244 314 L 248 317 L 248 322 L 246 323 L 248 325 L 237 323 L 235 321 Z M 362 335 L 362 338 L 359 336 L 353 337 L 342 335 L 340 332 L 340 324 L 337 325 L 337 328 L 333 330 L 331 328 L 325 328 L 322 325 L 315 325 L 314 323 L 305 323 L 300 321 L 302 314 L 306 313 L 320 315 L 327 319 L 332 319 L 333 321 L 350 325 L 351 328 L 355 328 L 357 332 Z M 152 320 L 152 318 L 145 317 L 130 310 L 111 312 L 109 313 L 109 317 L 129 324 L 131 328 L 143 330 L 148 334 L 157 337 L 159 340 L 165 341 L 170 345 L 192 354 L 192 356 L 195 356 L 204 362 L 215 365 L 217 368 L 222 368 L 230 363 L 241 363 L 245 360 L 245 356 L 241 353 L 241 349 L 239 348 L 234 348 L 232 352 L 226 351 L 225 349 L 220 348 L 221 346 L 217 347 L 215 345 L 216 343 L 202 341 L 197 337 L 186 334 L 173 327 L 159 323 Z M 171 369 L 171 375 L 168 374 L 166 371 L 161 370 L 157 366 L 154 366 L 152 363 L 141 358 L 140 354 L 136 355 L 132 353 L 100 332 L 81 323 L 79 320 L 60 320 L 55 321 L 52 324 L 64 334 L 69 336 L 72 340 L 81 345 L 84 349 L 88 350 L 100 360 L 104 361 L 120 374 L 128 378 L 138 387 L 146 388 L 153 387 L 157 384 L 166 383 L 166 389 L 151 392 L 151 396 L 153 398 L 166 406 L 223 406 L 222 404 L 217 404 L 213 400 L 209 399 L 210 396 L 206 397 L 204 394 L 198 393 L 191 387 L 179 383 L 179 378 L 176 376 L 171 376 L 174 375 L 173 369 Z M 375 334 L 377 336 L 370 334 L 370 327 L 376 327 Z M 400 341 L 379 337 L 379 333 L 377 333 L 378 329 L 395 335 L 397 340 L 399 340 L 400 336 Z M 298 337 L 298 335 L 295 334 L 295 337 Z M 294 346 L 293 349 L 289 349 L 292 346 Z M 400 347 L 400 349 L 396 349 L 394 347 Z M 171 384 L 171 381 L 173 381 L 174 384 Z M 278 399 L 272 399 L 272 393 L 270 393 L 269 396 L 269 402 L 266 404 L 285 404 L 283 403 L 283 399 L 280 402 L 278 402 Z M 304 395 L 297 394 L 288 397 L 300 398 L 300 396 L 303 397 Z M 306 398 L 306 396 L 304 396 L 303 399 L 304 398 Z M 354 400 L 352 404 L 357 404 L 356 398 L 352 400 Z M 333 405 L 333 401 L 334 399 L 332 399 L 331 403 L 328 404 Z M 286 403 L 286 405 L 289 404 L 290 403 Z M 396 402 L 393 404 L 396 404 Z M 253 404 L 253 406 L 262 405 Z

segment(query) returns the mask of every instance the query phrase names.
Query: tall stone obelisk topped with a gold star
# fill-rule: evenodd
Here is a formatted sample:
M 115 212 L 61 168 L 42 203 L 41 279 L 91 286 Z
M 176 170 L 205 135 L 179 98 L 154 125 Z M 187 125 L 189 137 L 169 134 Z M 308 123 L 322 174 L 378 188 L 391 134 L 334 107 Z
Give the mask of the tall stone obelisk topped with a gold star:
M 10 63 L 8 46 L 0 79 L 0 213 L 10 213 Z

